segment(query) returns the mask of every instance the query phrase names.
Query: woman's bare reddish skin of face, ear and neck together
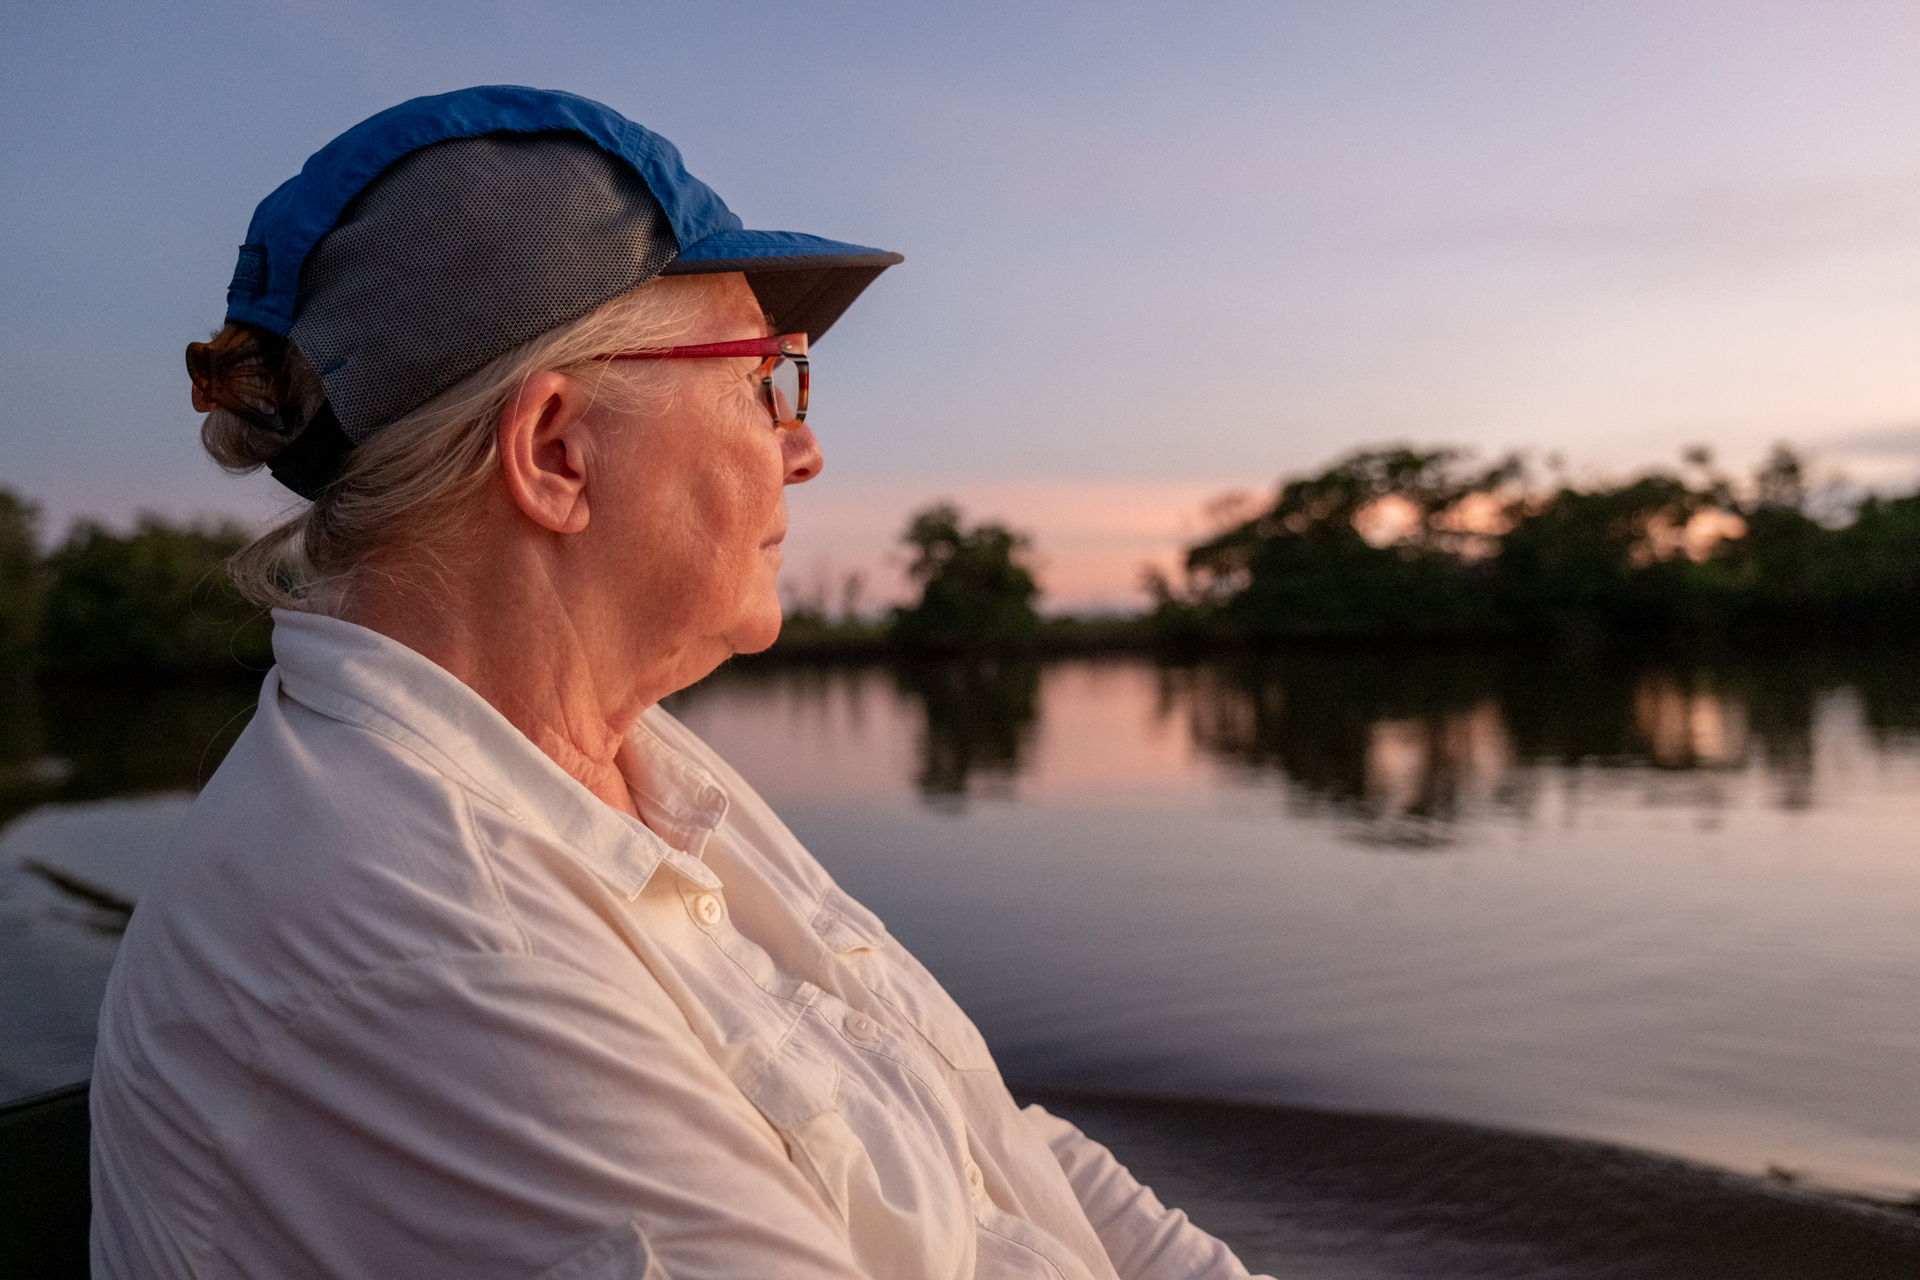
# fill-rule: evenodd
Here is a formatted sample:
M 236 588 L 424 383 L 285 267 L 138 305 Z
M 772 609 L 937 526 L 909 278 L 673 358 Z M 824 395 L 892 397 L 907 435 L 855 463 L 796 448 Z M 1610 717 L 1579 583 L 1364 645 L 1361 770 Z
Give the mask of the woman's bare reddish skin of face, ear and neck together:
M 741 274 L 660 286 L 699 299 L 684 344 L 768 332 Z M 589 378 L 534 374 L 501 413 L 499 472 L 445 553 L 367 574 L 348 620 L 432 658 L 636 812 L 614 766 L 634 720 L 780 635 L 785 486 L 822 459 L 804 424 L 774 424 L 756 367 L 616 365 L 605 376 L 668 384 L 634 403 L 595 395 Z

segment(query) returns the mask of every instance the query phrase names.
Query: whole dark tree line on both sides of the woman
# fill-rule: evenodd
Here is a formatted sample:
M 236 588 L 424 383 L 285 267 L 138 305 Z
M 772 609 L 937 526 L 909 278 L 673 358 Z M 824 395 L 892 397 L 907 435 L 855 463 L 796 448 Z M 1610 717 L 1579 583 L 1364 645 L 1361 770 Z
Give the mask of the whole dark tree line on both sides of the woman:
M 232 522 L 81 520 L 38 551 L 36 509 L 0 489 L 0 676 L 265 670 L 271 622 L 225 560 Z M 1705 451 L 1617 484 L 1530 482 L 1519 457 L 1359 449 L 1240 503 L 1187 549 L 1179 580 L 1146 574 L 1137 618 L 1043 618 L 1033 539 L 970 524 L 952 503 L 900 535 L 918 599 L 860 616 L 789 601 L 774 654 L 981 654 L 1300 641 L 1692 637 L 1743 629 L 1903 631 L 1920 624 L 1920 493 L 1809 501 L 1776 447 L 1743 484 Z

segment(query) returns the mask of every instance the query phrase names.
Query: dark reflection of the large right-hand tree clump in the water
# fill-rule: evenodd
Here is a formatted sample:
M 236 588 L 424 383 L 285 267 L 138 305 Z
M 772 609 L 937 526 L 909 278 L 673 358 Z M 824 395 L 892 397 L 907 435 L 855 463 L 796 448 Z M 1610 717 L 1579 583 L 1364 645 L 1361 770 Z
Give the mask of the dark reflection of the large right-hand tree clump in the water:
M 1444 846 L 1469 814 L 1530 814 L 1549 775 L 1711 814 L 1759 766 L 1776 806 L 1805 808 L 1814 720 L 1836 695 L 1859 702 L 1880 747 L 1920 733 L 1920 676 L 1905 647 L 1296 651 L 1160 674 L 1160 716 L 1185 718 L 1202 750 L 1279 773 L 1302 810 L 1400 848 Z

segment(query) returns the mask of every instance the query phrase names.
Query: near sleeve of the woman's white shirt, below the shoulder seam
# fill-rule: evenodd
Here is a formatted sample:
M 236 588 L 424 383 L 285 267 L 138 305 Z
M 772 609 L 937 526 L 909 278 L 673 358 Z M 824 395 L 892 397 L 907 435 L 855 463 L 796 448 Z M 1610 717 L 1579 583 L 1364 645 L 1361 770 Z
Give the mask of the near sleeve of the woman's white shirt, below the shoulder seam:
M 660 990 L 532 956 L 413 961 L 303 1006 L 255 1065 L 217 1136 L 230 1274 L 862 1276 Z

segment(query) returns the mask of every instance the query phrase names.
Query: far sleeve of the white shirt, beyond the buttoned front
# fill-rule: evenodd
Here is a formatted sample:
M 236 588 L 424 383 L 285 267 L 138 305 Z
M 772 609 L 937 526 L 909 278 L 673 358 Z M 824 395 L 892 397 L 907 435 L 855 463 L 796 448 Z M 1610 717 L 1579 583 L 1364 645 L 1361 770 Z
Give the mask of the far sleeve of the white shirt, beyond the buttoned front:
M 1246 1280 L 1233 1249 L 1162 1205 L 1104 1146 L 1039 1103 L 1023 1115 L 1066 1171 L 1121 1280 Z

